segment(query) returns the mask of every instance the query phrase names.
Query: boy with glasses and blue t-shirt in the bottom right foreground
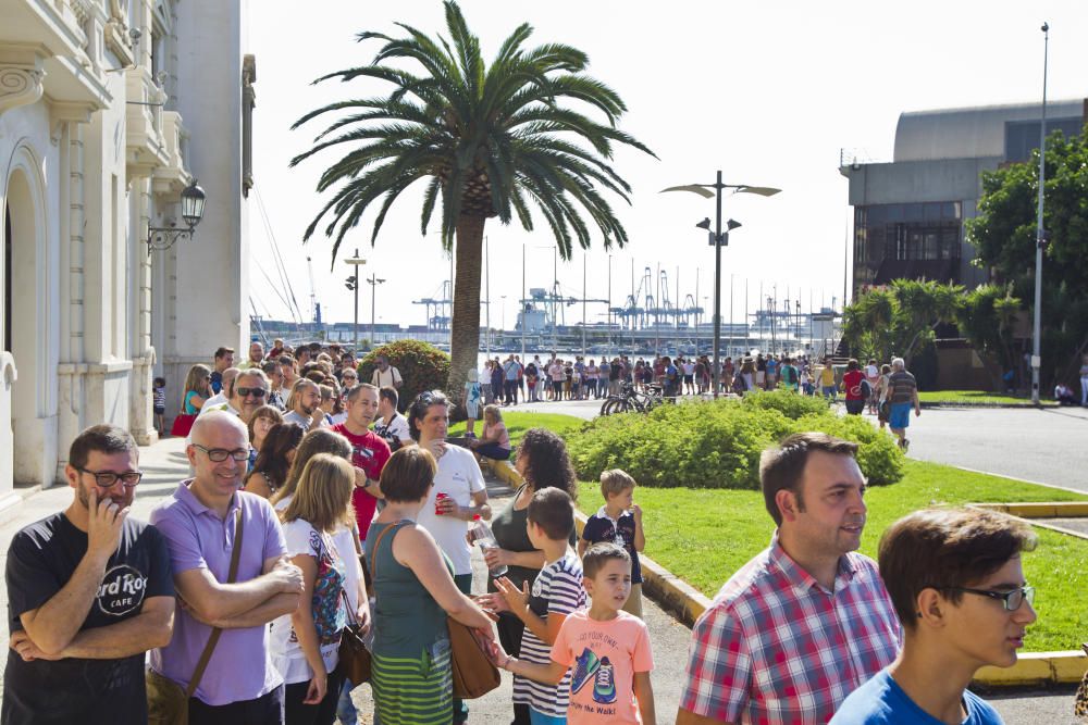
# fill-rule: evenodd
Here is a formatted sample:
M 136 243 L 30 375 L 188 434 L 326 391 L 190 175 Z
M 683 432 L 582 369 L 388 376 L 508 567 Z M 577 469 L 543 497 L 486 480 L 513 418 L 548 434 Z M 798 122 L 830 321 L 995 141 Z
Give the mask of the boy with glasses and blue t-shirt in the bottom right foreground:
M 928 509 L 880 541 L 880 576 L 903 624 L 903 649 L 839 707 L 831 725 L 1000 725 L 969 690 L 985 665 L 1010 667 L 1035 622 L 1021 552 L 1035 534 L 1005 514 Z

